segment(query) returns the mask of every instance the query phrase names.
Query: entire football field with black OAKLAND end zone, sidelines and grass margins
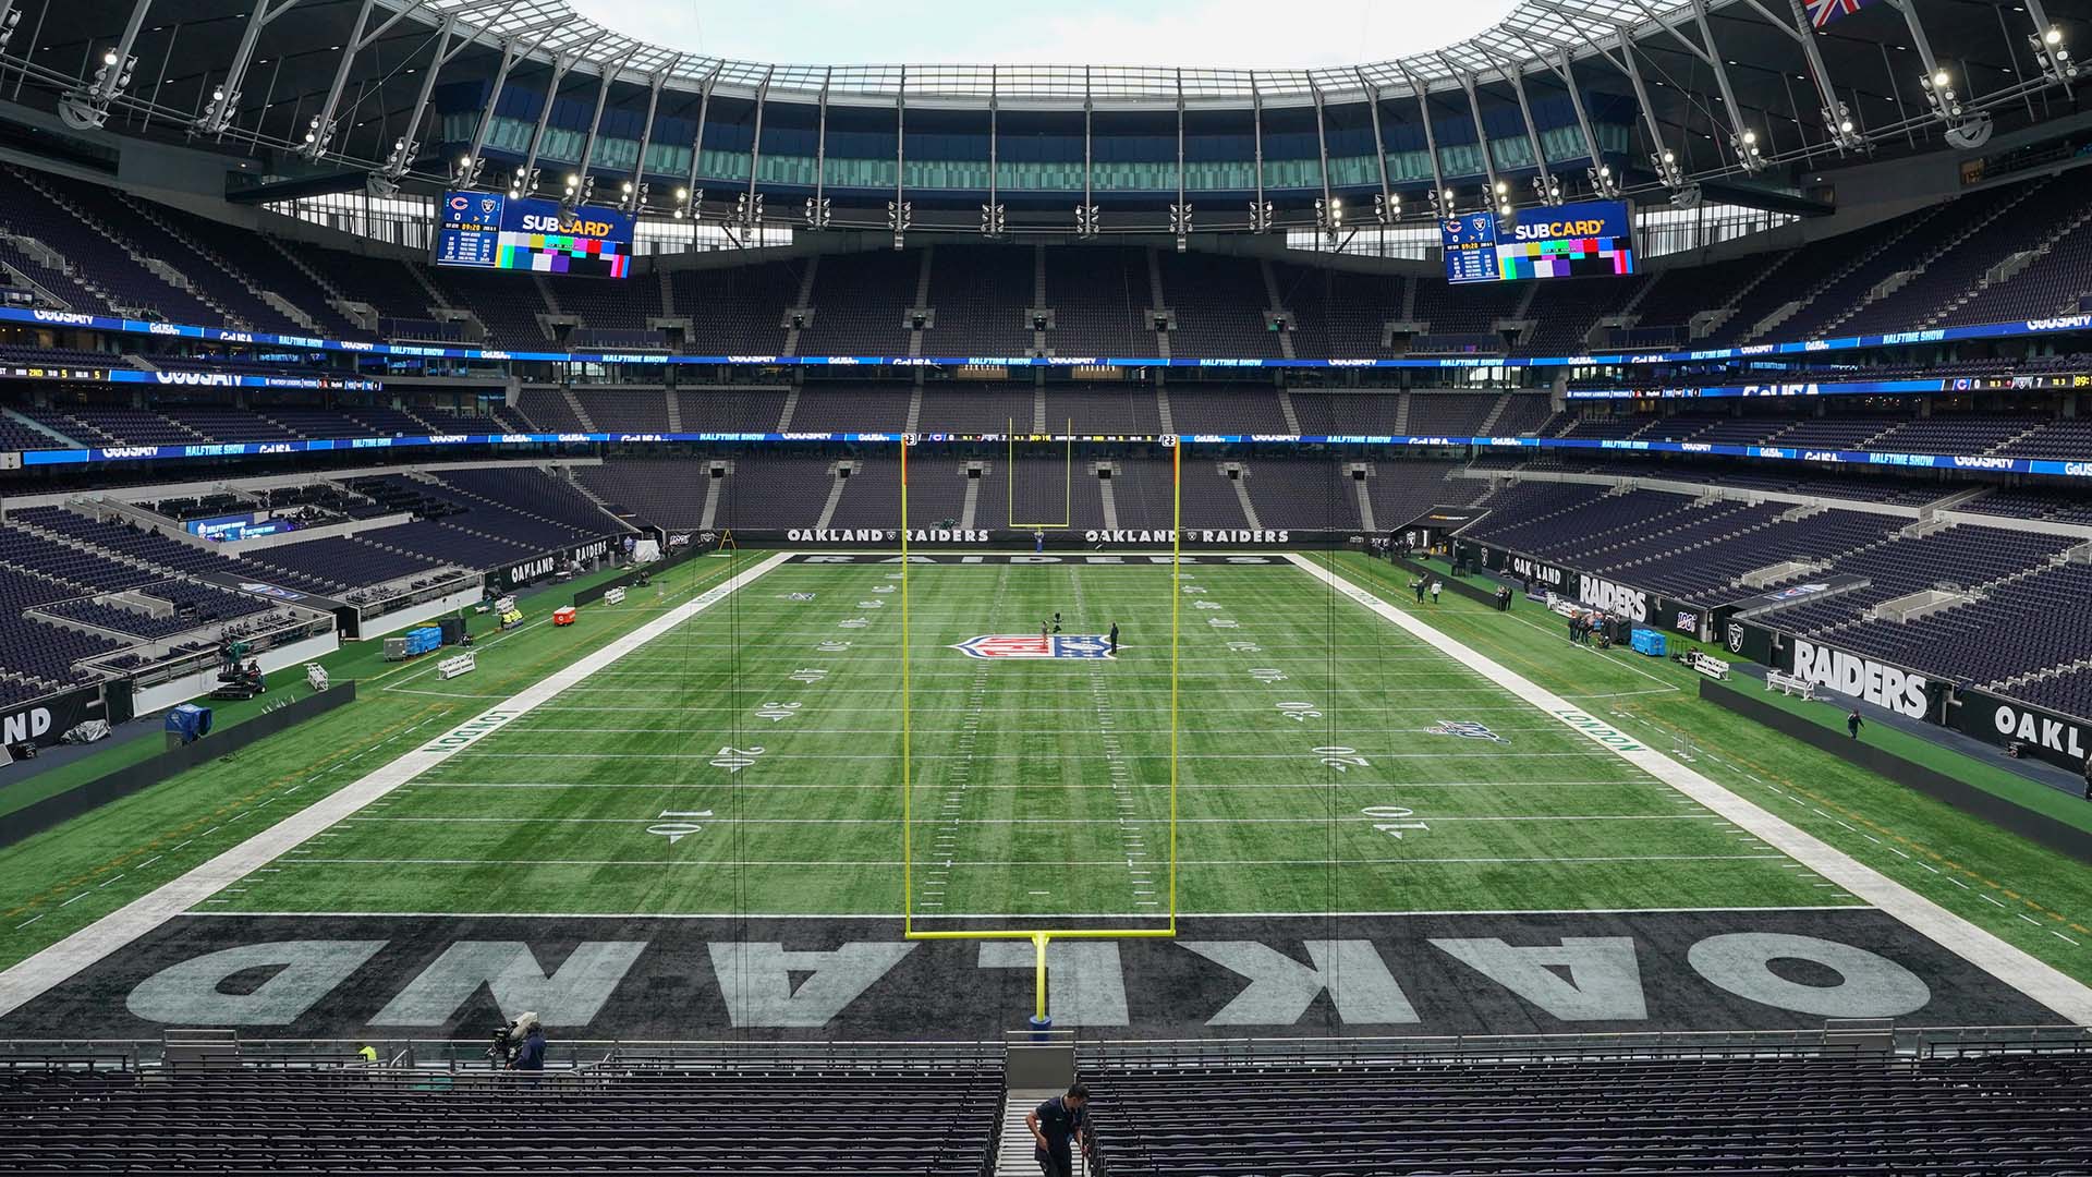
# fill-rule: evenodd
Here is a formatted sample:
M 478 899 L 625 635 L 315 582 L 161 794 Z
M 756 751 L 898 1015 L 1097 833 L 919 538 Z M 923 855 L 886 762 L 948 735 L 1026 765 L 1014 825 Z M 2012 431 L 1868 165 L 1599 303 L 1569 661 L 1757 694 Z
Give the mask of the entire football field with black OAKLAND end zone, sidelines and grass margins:
M 2077 924 L 1933 844 L 1966 817 L 1552 614 L 1397 605 L 1404 580 L 1358 553 L 697 559 L 473 674 L 372 674 L 339 743 L 159 834 L 172 878 L 123 898 L 149 842 L 111 898 L 54 898 L 0 1028 L 996 1037 L 1042 991 L 1033 945 L 981 936 L 1033 932 L 1056 1024 L 1102 1035 L 2092 1012 L 2027 953 L 2069 963 Z

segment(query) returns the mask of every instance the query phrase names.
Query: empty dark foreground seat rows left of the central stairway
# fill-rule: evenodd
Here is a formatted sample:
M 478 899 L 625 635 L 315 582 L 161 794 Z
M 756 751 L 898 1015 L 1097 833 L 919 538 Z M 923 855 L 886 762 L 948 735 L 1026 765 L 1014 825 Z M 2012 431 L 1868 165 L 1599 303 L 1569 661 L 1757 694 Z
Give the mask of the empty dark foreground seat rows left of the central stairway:
M 0 1169 L 983 1177 L 1000 1114 L 1000 1068 L 8 1070 Z

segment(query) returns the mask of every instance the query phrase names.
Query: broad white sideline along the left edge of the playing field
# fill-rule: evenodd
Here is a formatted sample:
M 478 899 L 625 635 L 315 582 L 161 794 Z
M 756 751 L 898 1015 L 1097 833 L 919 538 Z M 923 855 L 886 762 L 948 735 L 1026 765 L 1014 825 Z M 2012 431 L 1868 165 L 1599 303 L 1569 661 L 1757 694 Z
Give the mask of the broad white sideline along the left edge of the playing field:
M 697 614 L 703 614 L 711 605 L 718 605 L 736 588 L 749 584 L 778 563 L 784 563 L 789 555 L 791 553 L 778 553 L 745 572 L 736 572 L 726 582 L 699 593 L 667 614 L 661 614 L 644 626 L 611 641 L 602 649 L 596 649 L 571 666 L 563 666 L 529 687 L 523 687 L 500 706 L 460 723 L 444 735 L 437 735 L 420 748 L 400 756 L 391 764 L 377 769 L 364 779 L 335 790 L 326 798 L 293 813 L 291 817 L 270 825 L 262 834 L 255 834 L 188 873 L 161 884 L 157 890 L 134 898 L 109 915 L 103 915 L 94 924 L 88 924 L 33 957 L 17 961 L 15 968 L 0 972 L 0 1018 L 21 1009 L 29 1001 L 48 993 L 52 986 L 75 976 L 79 970 L 100 961 L 109 953 L 115 953 L 123 945 L 130 945 L 138 936 L 144 936 L 153 928 L 159 928 L 167 919 L 180 915 L 197 903 L 203 903 L 226 886 L 251 875 L 257 867 L 289 854 L 314 834 L 324 831 L 444 760 L 450 760 L 458 752 L 477 743 L 481 737 L 500 731 L 567 687 L 588 679 L 596 670 L 602 670 L 634 649 L 644 647 L 653 639 L 680 626 Z

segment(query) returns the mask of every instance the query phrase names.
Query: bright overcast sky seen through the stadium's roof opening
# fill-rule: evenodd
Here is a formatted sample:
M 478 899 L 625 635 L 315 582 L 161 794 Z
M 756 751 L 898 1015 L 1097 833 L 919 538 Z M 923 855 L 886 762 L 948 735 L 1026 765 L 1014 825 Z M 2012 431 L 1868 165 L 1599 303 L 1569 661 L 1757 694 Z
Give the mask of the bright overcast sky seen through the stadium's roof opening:
M 711 57 L 843 63 L 1356 65 L 1479 34 L 1513 0 L 573 0 L 621 34 Z

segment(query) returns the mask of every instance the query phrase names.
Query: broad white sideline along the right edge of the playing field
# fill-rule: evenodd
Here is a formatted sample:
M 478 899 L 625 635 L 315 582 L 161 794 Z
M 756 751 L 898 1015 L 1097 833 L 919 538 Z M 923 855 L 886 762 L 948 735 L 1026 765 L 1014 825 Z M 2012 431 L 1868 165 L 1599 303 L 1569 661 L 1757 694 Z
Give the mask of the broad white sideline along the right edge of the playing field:
M 1952 911 L 1874 871 L 1816 836 L 1789 825 L 1784 819 L 1766 813 L 1745 798 L 1738 798 L 1715 781 L 1686 769 L 1678 760 L 1644 746 L 1582 708 L 1569 706 L 1569 699 L 1529 683 L 1521 674 L 1483 658 L 1479 651 L 1446 637 L 1423 620 L 1412 618 L 1349 580 L 1318 568 L 1312 559 L 1293 553 L 1289 553 L 1287 559 L 1291 559 L 1308 576 L 1337 588 L 1345 597 L 1402 626 L 1410 635 L 1425 639 L 1448 658 L 1479 670 L 1496 685 L 1559 718 L 1569 729 L 1579 731 L 1602 748 L 1613 750 L 1621 760 L 1628 760 L 1684 796 L 1741 825 L 1745 831 L 1784 852 L 1789 859 L 1843 886 L 1847 892 L 1872 903 L 1950 953 L 2025 993 L 2033 1001 L 2054 1009 L 2073 1026 L 2092 1026 L 2092 989 L 2086 984 L 2065 976 L 2056 968 L 2027 955 L 2025 951 L 2015 949 L 1998 936 L 1977 928 L 1960 915 L 1954 915 Z

